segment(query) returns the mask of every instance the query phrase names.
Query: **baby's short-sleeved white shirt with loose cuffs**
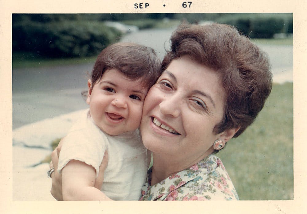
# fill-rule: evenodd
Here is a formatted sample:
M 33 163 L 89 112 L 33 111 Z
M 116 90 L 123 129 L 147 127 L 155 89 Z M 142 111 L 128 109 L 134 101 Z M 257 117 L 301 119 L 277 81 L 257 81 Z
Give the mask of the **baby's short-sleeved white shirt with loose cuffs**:
M 79 160 L 93 166 L 97 177 L 105 150 L 108 165 L 101 191 L 116 201 L 139 200 L 147 175 L 147 152 L 139 130 L 107 135 L 94 124 L 88 109 L 64 138 L 58 171 L 70 160 Z

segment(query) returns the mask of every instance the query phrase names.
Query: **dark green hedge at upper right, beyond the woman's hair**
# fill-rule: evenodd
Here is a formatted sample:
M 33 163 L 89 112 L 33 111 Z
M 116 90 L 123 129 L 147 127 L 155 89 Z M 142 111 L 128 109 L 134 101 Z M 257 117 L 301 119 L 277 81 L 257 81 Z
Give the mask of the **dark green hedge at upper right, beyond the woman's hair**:
M 293 17 L 288 14 L 231 14 L 216 20 L 235 26 L 250 38 L 272 38 L 275 33 L 293 33 Z

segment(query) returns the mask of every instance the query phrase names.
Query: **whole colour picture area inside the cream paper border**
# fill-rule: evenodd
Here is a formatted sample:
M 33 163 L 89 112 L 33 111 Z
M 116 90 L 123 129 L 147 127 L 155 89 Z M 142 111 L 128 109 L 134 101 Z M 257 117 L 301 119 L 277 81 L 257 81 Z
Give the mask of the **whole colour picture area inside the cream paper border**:
M 13 201 L 294 199 L 293 13 L 11 27 Z

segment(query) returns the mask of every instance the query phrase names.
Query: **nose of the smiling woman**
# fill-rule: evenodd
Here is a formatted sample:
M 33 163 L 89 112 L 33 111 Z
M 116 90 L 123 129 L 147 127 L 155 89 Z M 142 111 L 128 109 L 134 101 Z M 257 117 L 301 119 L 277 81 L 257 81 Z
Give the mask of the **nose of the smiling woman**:
M 162 114 L 169 115 L 171 117 L 178 117 L 180 115 L 180 97 L 176 94 L 170 96 L 164 96 L 160 102 L 160 111 Z

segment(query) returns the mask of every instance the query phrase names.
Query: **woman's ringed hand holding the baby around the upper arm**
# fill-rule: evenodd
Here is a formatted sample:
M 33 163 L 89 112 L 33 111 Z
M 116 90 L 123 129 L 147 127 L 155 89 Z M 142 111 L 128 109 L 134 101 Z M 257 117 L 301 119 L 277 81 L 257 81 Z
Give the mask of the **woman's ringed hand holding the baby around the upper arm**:
M 51 173 L 51 180 L 52 180 L 52 185 L 51 185 L 51 190 L 50 193 L 51 195 L 58 201 L 63 201 L 63 195 L 62 195 L 62 177 L 57 171 L 57 166 L 59 162 L 59 156 L 60 156 L 60 151 L 62 148 L 62 144 L 64 142 L 64 138 L 61 139 L 59 145 L 52 151 L 51 153 L 51 162 L 50 162 L 50 168 L 54 168 L 54 171 Z M 95 180 L 95 185 L 94 187 L 97 189 L 101 189 L 102 184 L 103 184 L 103 177 L 104 177 L 104 170 L 107 168 L 108 164 L 108 153 L 105 151 L 103 160 L 99 166 L 99 174 L 98 177 Z

